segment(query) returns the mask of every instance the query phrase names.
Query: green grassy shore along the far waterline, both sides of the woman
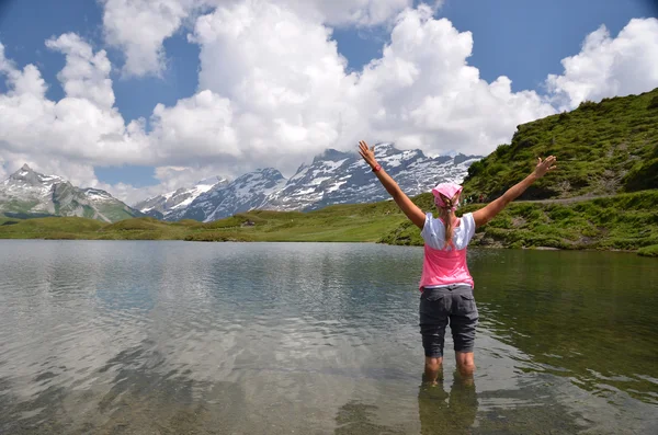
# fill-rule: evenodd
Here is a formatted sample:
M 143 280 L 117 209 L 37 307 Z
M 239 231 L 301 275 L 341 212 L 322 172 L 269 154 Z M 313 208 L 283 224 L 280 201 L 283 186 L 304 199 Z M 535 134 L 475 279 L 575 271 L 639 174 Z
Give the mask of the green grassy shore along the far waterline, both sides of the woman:
M 412 199 L 432 209 L 432 195 Z M 658 256 L 658 190 L 571 204 L 514 202 L 478 228 L 470 248 L 609 251 Z M 466 205 L 460 215 L 479 205 Z M 182 240 L 204 242 L 353 242 L 422 247 L 420 231 L 392 202 L 308 213 L 252 210 L 200 222 L 132 218 L 114 224 L 79 217 L 0 217 L 0 239 Z

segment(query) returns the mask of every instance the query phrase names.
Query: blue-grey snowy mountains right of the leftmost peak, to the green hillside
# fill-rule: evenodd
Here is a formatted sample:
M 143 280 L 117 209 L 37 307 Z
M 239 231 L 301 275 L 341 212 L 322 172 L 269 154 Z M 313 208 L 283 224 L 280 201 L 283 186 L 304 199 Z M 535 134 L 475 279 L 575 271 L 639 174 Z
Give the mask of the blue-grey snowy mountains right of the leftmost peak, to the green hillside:
M 375 147 L 377 161 L 402 191 L 415 196 L 444 181 L 462 182 L 479 156 L 426 157 L 420 150 L 401 151 L 392 144 Z M 203 183 L 200 183 L 203 184 Z M 203 184 L 207 186 L 206 184 Z M 205 187 L 204 187 L 205 188 Z M 181 197 L 189 190 L 179 190 Z M 169 195 L 169 196 L 168 196 Z M 356 153 L 333 149 L 299 167 L 285 180 L 275 169 L 258 170 L 232 182 L 220 181 L 194 199 L 173 201 L 175 192 L 138 204 L 143 213 L 162 213 L 167 220 L 211 221 L 254 208 L 314 210 L 332 204 L 370 203 L 388 198 L 376 176 Z M 170 202 L 170 208 L 158 204 Z M 178 205 L 177 205 L 178 204 Z M 154 215 L 155 216 L 155 215 Z

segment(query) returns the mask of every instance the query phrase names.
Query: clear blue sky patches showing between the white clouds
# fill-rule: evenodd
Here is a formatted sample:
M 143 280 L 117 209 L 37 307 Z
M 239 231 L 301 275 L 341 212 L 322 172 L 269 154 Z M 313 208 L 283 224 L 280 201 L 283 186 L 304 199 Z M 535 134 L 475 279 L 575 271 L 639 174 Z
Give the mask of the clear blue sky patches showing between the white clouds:
M 594 5 L 595 3 L 595 5 Z M 615 36 L 632 18 L 656 16 L 650 0 L 445 0 L 438 18 L 449 19 L 461 31 L 473 33 L 469 65 L 488 82 L 499 76 L 512 80 L 512 91 L 543 93 L 548 73 L 561 73 L 560 59 L 578 54 L 585 36 L 604 24 Z M 107 50 L 116 107 L 126 121 L 148 118 L 156 104 L 172 106 L 197 90 L 200 47 L 186 39 L 190 28 L 180 28 L 164 41 L 167 69 L 161 78 L 123 78 L 123 54 L 104 45 L 102 4 L 91 0 L 4 0 L 0 7 L 0 42 L 8 58 L 20 67 L 35 64 L 49 84 L 47 96 L 59 100 L 64 92 L 57 72 L 65 59 L 44 41 L 66 32 L 84 37 L 95 49 Z M 333 31 L 339 51 L 351 70 L 360 70 L 382 54 L 389 38 L 386 26 L 339 27 Z M 4 91 L 0 83 L 0 91 Z M 95 168 L 100 181 L 135 186 L 157 183 L 152 167 Z

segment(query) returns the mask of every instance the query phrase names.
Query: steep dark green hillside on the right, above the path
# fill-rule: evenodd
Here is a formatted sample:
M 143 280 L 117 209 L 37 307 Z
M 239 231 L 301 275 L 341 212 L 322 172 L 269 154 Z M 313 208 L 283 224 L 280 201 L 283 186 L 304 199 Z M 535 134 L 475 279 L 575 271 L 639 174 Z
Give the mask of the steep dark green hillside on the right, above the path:
M 522 180 L 537 157 L 549 154 L 557 156 L 559 171 L 520 199 L 658 188 L 658 89 L 585 102 L 572 112 L 519 126 L 511 144 L 469 168 L 465 193 L 492 199 Z

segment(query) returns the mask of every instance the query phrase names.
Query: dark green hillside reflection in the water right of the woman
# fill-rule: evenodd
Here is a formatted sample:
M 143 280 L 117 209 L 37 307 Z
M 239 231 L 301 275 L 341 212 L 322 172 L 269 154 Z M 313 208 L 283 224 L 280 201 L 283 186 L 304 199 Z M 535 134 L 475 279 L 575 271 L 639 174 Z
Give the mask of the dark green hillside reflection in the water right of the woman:
M 484 254 L 470 262 L 480 283 L 481 327 L 527 354 L 521 369 L 568 377 L 608 400 L 619 400 L 621 390 L 658 404 L 655 260 L 610 252 Z

